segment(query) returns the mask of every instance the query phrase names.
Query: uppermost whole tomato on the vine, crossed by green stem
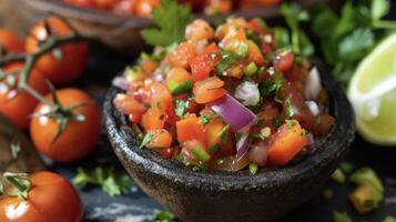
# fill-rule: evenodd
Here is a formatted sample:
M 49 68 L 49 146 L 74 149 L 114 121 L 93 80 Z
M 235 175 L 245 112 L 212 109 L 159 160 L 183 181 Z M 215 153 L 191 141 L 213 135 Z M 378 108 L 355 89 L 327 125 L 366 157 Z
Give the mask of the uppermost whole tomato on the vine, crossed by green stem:
M 64 37 L 72 32 L 70 27 L 59 18 L 52 17 L 47 21 L 51 33 L 48 33 L 48 30 L 45 30 L 43 21 L 37 23 L 31 29 L 26 41 L 26 50 L 28 53 L 37 52 L 40 48 L 40 43 L 45 41 L 51 34 Z M 88 59 L 88 43 L 69 43 L 62 46 L 58 50 L 58 52 L 49 52 L 41 57 L 38 60 L 35 68 L 44 75 L 44 78 L 54 84 L 60 85 L 75 80 L 84 70 Z M 55 56 L 55 53 L 59 54 Z

